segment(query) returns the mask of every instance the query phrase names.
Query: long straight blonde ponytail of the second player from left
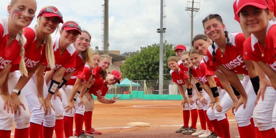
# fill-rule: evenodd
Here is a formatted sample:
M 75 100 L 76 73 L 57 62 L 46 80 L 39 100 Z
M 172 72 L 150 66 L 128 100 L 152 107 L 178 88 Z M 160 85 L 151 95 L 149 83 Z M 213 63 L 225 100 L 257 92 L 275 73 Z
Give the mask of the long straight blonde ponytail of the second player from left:
M 55 56 L 54 56 L 54 50 L 52 47 L 51 34 L 49 34 L 46 37 L 45 55 L 46 55 L 47 63 L 50 66 L 51 70 L 54 69 L 55 68 Z

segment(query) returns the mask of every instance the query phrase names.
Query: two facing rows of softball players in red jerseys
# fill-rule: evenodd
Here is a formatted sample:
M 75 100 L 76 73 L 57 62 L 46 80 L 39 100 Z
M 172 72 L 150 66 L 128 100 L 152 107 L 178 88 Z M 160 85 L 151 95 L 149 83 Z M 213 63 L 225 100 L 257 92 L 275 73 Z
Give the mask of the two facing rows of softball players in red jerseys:
M 15 138 L 52 138 L 54 130 L 56 138 L 101 134 L 91 126 L 91 94 L 115 103 L 116 95 L 105 94 L 121 73 L 107 72 L 111 57 L 90 52 L 91 36 L 75 21 L 63 22 L 55 6 L 35 16 L 36 8 L 35 0 L 11 0 L 9 17 L 0 18 L 1 138 L 10 138 L 14 122 Z M 232 109 L 241 138 L 276 137 L 275 0 L 236 0 L 233 9 L 243 33 L 228 33 L 222 17 L 210 14 L 193 48 L 178 45 L 167 60 L 183 96 L 184 125 L 175 132 L 230 138 L 226 112 Z M 60 37 L 52 38 L 56 30 Z

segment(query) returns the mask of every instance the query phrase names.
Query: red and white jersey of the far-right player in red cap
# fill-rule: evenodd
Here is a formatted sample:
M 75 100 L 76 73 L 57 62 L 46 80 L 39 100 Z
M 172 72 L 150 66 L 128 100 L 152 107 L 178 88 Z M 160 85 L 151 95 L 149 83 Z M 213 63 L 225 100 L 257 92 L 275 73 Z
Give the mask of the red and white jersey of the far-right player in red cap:
M 264 47 L 258 39 L 251 34 L 244 42 L 244 59 L 263 61 L 276 71 L 275 48 L 276 48 L 276 23 L 269 21 L 266 29 Z M 264 56 L 262 57 L 262 53 Z

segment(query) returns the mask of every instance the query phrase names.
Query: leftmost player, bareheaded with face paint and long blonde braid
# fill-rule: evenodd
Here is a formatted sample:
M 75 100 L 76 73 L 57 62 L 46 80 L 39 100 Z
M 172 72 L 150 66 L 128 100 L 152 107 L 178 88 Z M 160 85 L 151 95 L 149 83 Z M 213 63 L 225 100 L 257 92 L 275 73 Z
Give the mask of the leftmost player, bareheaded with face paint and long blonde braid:
M 30 23 L 33 21 L 33 18 L 35 16 L 34 14 L 36 12 L 36 1 L 11 0 L 7 10 L 10 14 L 9 17 L 7 19 L 0 19 L 0 105 L 2 106 L 0 108 L 0 136 L 3 138 L 10 137 L 10 133 L 14 123 L 13 121 L 15 119 L 15 137 L 18 138 L 21 137 L 21 132 L 23 128 L 29 128 L 28 125 L 23 125 L 20 122 L 20 110 L 22 110 L 23 113 L 25 111 L 24 104 L 26 105 L 27 103 L 24 102 L 18 104 L 18 102 L 16 102 L 15 99 L 17 99 L 18 101 L 18 99 L 23 99 L 24 96 L 22 95 L 20 98 L 18 98 L 18 96 L 15 96 L 12 93 L 12 89 L 14 88 L 14 86 L 8 87 L 8 78 L 10 77 L 10 68 L 14 64 L 20 65 L 19 69 L 22 73 L 22 76 L 26 77 L 28 75 L 24 62 L 24 45 L 26 44 L 26 39 L 24 35 L 22 35 L 22 29 L 30 25 Z M 18 91 L 15 91 L 17 92 L 17 95 Z M 16 102 L 16 107 L 14 107 L 13 101 Z M 13 114 L 13 112 L 15 113 Z M 27 121 L 25 123 L 28 124 L 29 114 L 26 114 L 26 116 L 24 114 L 22 116 L 24 116 L 24 118 L 27 118 Z M 28 137 L 28 132 L 23 132 L 22 137 Z

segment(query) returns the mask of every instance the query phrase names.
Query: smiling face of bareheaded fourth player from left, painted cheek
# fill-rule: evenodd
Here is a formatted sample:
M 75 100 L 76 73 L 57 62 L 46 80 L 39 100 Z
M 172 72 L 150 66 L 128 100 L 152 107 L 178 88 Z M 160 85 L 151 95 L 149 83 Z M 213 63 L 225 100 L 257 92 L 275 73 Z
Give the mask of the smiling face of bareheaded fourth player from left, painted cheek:
M 89 47 L 90 36 L 87 33 L 79 35 L 75 42 L 75 48 L 79 51 L 85 51 Z

